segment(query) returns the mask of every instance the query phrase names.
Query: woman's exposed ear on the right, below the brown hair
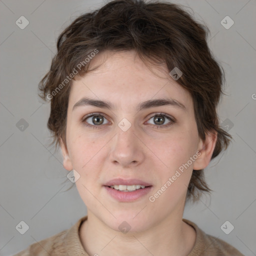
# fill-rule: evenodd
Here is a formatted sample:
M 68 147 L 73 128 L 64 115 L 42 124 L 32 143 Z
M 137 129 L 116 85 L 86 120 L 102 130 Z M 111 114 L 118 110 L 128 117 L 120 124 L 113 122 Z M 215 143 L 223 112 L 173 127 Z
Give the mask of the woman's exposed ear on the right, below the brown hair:
M 200 138 L 197 150 L 200 152 L 194 161 L 193 169 L 204 169 L 210 162 L 217 141 L 217 133 L 214 131 L 205 134 L 205 140 Z

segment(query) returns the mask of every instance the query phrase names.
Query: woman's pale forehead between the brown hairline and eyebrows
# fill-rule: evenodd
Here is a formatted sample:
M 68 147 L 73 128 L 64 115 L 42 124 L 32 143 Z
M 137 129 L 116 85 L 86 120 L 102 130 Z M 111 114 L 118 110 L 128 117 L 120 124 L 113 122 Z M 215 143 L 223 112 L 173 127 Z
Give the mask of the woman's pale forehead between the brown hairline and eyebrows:
M 85 96 L 111 101 L 119 109 L 154 98 L 171 98 L 192 107 L 190 94 L 170 77 L 166 65 L 149 66 L 133 50 L 99 52 L 90 61 L 90 69 L 96 68 L 72 82 L 71 107 Z

